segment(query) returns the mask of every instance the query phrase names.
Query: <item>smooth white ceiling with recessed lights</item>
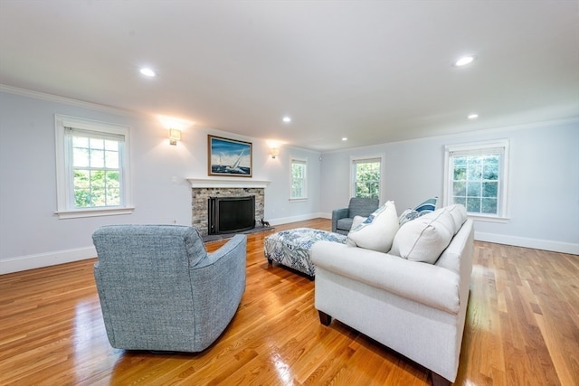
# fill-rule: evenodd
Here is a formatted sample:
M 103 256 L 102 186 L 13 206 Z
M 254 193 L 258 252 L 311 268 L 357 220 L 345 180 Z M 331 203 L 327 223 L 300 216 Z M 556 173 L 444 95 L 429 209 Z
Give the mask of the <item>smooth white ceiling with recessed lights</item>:
M 0 0 L 0 83 L 318 151 L 577 118 L 578 2 Z

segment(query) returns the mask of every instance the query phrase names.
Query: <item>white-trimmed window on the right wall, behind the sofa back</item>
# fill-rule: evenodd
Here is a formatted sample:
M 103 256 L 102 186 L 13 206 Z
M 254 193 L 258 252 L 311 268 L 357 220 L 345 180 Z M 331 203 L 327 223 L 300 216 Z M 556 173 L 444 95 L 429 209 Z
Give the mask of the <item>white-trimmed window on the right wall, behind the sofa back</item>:
M 508 139 L 445 146 L 445 204 L 461 203 L 471 216 L 506 219 Z

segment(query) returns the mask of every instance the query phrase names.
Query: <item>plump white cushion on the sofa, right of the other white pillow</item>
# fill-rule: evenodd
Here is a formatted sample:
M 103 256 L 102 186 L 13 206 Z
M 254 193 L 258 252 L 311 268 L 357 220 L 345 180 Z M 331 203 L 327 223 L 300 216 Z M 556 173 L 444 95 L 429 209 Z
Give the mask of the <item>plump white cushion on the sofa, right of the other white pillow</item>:
M 394 236 L 390 254 L 434 264 L 454 236 L 454 220 L 446 208 L 406 222 Z

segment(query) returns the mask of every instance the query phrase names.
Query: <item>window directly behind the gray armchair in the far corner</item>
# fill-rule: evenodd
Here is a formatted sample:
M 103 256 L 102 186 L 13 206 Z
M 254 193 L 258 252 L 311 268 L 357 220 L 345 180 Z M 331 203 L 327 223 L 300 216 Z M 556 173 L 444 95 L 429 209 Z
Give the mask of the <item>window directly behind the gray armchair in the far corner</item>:
M 382 157 L 352 158 L 350 190 L 352 197 L 380 199 Z

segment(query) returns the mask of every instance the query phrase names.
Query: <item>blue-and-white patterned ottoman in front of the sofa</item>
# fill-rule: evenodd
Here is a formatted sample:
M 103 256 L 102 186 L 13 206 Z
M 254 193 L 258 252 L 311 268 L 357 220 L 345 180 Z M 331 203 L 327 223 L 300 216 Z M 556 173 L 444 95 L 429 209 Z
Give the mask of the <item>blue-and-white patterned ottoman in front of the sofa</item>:
M 273 261 L 299 270 L 313 278 L 316 268 L 309 259 L 309 250 L 316 241 L 328 240 L 346 244 L 347 236 L 310 228 L 280 231 L 263 240 L 263 252 L 268 262 Z

